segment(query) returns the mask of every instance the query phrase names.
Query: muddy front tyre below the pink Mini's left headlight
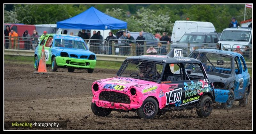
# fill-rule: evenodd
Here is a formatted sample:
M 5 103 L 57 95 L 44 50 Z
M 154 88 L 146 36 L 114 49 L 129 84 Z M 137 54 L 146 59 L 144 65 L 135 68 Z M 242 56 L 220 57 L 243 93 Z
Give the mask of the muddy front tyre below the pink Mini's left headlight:
M 92 113 L 97 116 L 108 116 L 112 111 L 111 108 L 99 107 L 94 103 L 91 104 L 91 108 L 92 108 Z

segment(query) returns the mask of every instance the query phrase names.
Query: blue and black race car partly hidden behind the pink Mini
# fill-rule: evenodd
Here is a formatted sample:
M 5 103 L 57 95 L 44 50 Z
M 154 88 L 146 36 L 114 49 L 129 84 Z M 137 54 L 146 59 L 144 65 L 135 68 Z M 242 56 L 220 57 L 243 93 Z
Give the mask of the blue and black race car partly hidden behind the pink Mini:
M 250 93 L 250 75 L 244 57 L 236 52 L 221 49 L 197 49 L 190 53 L 190 58 L 202 62 L 204 69 L 213 83 L 215 101 L 230 109 L 234 100 L 239 106 L 245 106 Z M 191 68 L 195 70 L 196 68 Z

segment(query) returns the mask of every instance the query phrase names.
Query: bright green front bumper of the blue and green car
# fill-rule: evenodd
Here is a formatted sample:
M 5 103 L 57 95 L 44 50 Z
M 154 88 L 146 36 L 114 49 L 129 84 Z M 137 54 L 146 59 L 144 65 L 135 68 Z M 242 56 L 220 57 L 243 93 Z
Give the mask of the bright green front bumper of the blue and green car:
M 96 59 L 76 59 L 69 57 L 55 57 L 57 66 L 75 67 L 75 68 L 91 68 L 94 69 Z

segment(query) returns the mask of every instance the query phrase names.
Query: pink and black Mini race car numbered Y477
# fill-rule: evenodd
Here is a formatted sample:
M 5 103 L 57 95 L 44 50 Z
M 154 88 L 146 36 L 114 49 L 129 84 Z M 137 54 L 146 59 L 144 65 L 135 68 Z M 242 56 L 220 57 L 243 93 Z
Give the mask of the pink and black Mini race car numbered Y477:
M 128 57 L 116 77 L 92 83 L 92 112 L 107 116 L 111 111 L 136 111 L 140 118 L 178 109 L 197 108 L 199 117 L 209 116 L 214 89 L 201 61 L 167 55 Z

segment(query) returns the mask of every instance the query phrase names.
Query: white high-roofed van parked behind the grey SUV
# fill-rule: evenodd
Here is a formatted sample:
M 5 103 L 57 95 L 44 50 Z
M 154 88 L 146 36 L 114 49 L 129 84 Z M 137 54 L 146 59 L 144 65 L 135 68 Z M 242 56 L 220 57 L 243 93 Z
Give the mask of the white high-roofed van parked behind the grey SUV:
M 177 42 L 185 33 L 216 32 L 211 22 L 177 20 L 172 29 L 172 42 Z

